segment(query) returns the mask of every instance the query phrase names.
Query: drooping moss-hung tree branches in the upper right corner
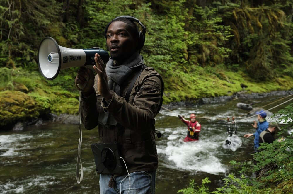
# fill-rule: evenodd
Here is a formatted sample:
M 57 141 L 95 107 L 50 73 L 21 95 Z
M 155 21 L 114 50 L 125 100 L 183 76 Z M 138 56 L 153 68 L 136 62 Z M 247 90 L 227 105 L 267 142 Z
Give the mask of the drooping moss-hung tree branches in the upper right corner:
M 237 18 L 235 25 L 231 25 L 234 39 L 236 43 L 242 41 L 239 54 L 245 59 L 243 64 L 251 78 L 258 81 L 272 79 L 279 74 L 276 69 L 282 71 L 284 64 L 286 67 L 292 65 L 289 47 L 285 46 L 291 35 L 284 29 L 286 17 L 282 10 L 264 5 L 254 8 L 243 6 L 235 8 L 233 15 Z M 235 49 L 233 54 L 237 55 L 239 50 Z

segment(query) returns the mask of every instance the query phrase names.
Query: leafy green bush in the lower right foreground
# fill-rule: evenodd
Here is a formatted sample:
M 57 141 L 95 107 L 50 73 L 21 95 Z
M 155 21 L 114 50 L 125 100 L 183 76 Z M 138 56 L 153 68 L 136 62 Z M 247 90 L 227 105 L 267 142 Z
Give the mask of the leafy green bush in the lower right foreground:
M 241 168 L 241 172 L 255 172 L 265 170 L 263 176 L 251 180 L 253 190 L 269 190 L 273 193 L 288 193 L 293 188 L 293 132 L 288 133 L 293 127 L 293 104 L 280 110 L 274 115 L 276 118 L 273 122 L 283 122 L 282 131 L 278 135 L 278 140 L 272 144 L 262 143 L 259 147 L 261 152 L 254 154 L 254 160 L 257 164 L 249 166 L 246 162 L 231 161 Z M 284 134 L 289 134 L 282 137 Z M 282 135 L 282 136 L 281 136 Z

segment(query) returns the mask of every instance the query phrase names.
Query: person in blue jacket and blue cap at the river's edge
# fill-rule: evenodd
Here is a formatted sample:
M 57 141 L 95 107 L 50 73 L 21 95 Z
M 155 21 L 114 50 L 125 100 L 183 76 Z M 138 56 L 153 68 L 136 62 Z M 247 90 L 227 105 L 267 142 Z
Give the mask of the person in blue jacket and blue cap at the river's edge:
M 251 136 L 254 136 L 254 151 L 258 152 L 257 149 L 259 147 L 259 135 L 261 132 L 266 130 L 269 127 L 269 123 L 265 120 L 267 117 L 267 113 L 263 110 L 260 110 L 256 112 L 258 123 L 254 121 L 253 124 L 251 124 L 255 128 L 255 133 L 247 133 L 244 135 L 244 137 L 248 138 Z

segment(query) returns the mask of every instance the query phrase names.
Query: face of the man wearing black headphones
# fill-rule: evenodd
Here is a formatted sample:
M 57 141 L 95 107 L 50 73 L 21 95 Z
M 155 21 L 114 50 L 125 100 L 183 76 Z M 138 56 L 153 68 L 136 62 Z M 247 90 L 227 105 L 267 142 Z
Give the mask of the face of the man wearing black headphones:
M 118 64 L 130 57 L 137 47 L 137 38 L 130 33 L 129 27 L 122 21 L 114 21 L 106 33 L 110 55 Z

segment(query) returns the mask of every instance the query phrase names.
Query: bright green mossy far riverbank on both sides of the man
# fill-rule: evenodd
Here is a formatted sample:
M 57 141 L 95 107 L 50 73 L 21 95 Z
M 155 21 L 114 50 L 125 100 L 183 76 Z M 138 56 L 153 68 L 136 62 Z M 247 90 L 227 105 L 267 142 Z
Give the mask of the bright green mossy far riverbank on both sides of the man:
M 223 66 L 214 68 L 194 66 L 191 69 L 193 71 L 176 69 L 174 76 L 170 78 L 162 74 L 165 83 L 164 104 L 176 101 L 196 101 L 205 97 L 230 96 L 243 91 L 240 84 L 248 86 L 245 88 L 247 93 L 293 88 L 293 78 L 289 76 L 266 82 L 255 82 L 243 73 L 243 70 L 233 72 Z M 15 124 L 48 113 L 78 114 L 79 92 L 74 84 L 72 88 L 69 88 L 74 78 L 67 76 L 67 79 L 56 78 L 56 81 L 48 81 L 38 72 L 28 72 L 23 69 L 6 68 L 2 69 L 2 72 L 9 75 L 3 77 L 6 85 L 2 84 L 2 91 L 0 89 L 0 126 Z M 28 94 L 13 90 L 25 91 Z

